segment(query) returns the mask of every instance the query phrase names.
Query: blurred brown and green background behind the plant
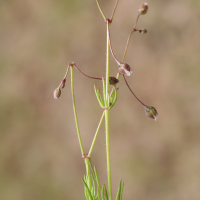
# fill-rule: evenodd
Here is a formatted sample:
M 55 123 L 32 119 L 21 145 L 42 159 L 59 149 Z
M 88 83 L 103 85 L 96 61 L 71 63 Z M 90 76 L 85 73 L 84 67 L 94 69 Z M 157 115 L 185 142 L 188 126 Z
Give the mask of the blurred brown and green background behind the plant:
M 111 26 L 116 57 L 143 1 L 120 0 Z M 200 199 L 200 1 L 149 0 L 126 62 L 136 95 L 155 106 L 158 120 L 123 79 L 110 112 L 113 196 L 120 179 L 123 199 Z M 110 17 L 114 0 L 100 0 Z M 105 75 L 106 25 L 95 0 L 0 0 L 0 199 L 85 199 L 84 161 L 77 140 L 70 76 L 62 98 L 53 91 L 69 62 L 86 74 Z M 111 59 L 110 74 L 117 65 Z M 88 152 L 102 110 L 94 83 L 74 71 L 78 120 Z M 104 126 L 92 162 L 107 185 Z

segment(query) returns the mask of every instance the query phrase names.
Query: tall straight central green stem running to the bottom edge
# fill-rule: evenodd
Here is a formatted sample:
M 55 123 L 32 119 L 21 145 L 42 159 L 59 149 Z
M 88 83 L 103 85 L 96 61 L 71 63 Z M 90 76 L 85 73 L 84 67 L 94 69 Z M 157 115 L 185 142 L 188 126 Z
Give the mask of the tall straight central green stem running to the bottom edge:
M 110 42 L 109 42 L 110 22 L 107 20 L 107 56 L 106 56 L 106 107 L 109 102 L 109 67 L 110 67 Z M 110 165 L 110 142 L 109 142 L 109 109 L 105 110 L 105 129 L 106 129 L 106 155 L 107 155 L 107 176 L 108 176 L 108 193 L 109 200 L 112 200 L 112 182 L 111 182 L 111 165 Z

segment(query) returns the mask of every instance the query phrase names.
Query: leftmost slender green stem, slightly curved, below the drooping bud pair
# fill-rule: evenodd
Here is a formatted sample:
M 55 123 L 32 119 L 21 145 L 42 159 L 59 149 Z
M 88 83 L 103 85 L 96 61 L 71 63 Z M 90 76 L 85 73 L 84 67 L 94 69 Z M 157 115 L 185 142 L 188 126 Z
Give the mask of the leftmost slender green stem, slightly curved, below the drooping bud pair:
M 79 130 L 79 125 L 78 125 L 77 113 L 76 113 L 76 105 L 75 105 L 75 97 L 74 97 L 73 66 L 71 66 L 71 90 L 72 90 L 72 102 L 73 102 L 73 108 L 74 108 L 74 118 L 75 118 L 75 122 L 76 122 L 76 129 L 77 129 L 77 134 L 78 134 L 79 145 L 81 148 L 82 156 L 85 157 L 85 153 L 83 150 L 83 144 L 82 144 L 82 140 L 81 140 L 81 135 L 80 135 L 80 130 Z

